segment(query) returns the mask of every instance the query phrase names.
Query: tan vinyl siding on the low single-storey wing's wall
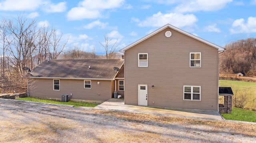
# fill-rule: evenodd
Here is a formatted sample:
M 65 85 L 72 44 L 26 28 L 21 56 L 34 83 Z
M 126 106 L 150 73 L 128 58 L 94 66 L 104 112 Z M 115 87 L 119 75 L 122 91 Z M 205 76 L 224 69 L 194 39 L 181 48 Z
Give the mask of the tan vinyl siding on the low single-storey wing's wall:
M 86 89 L 84 80 L 60 79 L 60 91 L 53 90 L 53 79 L 30 79 L 29 84 L 29 96 L 38 98 L 61 98 L 72 93 L 72 99 L 106 101 L 114 91 L 114 80 L 91 80 L 91 89 Z

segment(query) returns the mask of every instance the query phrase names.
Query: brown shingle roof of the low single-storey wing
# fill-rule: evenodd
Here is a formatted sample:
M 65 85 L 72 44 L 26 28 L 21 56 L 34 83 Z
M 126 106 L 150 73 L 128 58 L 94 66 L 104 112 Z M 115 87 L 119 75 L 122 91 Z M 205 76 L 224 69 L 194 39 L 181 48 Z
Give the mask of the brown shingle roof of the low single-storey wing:
M 30 72 L 30 78 L 114 80 L 113 68 L 123 63 L 120 59 L 46 60 Z

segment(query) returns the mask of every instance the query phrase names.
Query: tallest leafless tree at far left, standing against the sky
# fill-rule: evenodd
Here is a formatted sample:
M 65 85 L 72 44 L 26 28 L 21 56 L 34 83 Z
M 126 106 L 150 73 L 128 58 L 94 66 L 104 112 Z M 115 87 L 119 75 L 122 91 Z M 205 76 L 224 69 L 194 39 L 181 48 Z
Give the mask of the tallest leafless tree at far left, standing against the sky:
M 23 73 L 22 67 L 26 67 L 28 59 L 34 53 L 36 47 L 34 42 L 36 39 L 36 20 L 28 21 L 23 16 L 14 19 L 16 24 L 9 20 L 7 28 L 10 34 L 9 41 L 12 48 L 9 48 L 16 67 L 17 73 Z

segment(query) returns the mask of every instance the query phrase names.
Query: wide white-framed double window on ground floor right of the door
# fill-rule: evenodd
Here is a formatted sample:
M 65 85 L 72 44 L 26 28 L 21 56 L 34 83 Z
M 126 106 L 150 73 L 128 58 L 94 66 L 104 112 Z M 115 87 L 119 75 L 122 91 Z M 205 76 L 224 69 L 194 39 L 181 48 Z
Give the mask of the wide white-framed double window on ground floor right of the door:
M 201 100 L 201 86 L 183 86 L 183 100 Z

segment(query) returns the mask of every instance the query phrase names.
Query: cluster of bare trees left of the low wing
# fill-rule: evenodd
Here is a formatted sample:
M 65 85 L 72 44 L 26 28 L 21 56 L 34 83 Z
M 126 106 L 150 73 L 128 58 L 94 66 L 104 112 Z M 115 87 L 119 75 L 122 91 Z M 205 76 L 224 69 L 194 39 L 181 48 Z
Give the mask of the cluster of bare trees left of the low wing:
M 23 15 L 0 21 L 0 92 L 25 90 L 24 67 L 33 69 L 46 59 L 57 59 L 68 39 L 48 26 L 38 27 L 36 20 Z

